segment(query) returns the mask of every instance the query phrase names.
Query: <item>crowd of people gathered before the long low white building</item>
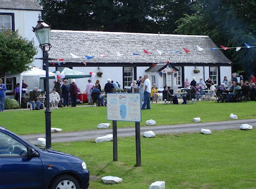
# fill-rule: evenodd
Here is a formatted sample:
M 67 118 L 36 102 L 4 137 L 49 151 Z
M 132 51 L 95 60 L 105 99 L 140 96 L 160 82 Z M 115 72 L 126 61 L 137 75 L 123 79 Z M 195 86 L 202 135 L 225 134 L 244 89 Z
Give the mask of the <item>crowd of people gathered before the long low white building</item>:
M 205 90 L 207 89 L 207 94 L 209 96 L 214 96 L 218 98 L 218 102 L 233 102 L 234 99 L 237 99 L 237 96 L 245 96 L 247 100 L 256 100 L 256 77 L 250 75 L 248 80 L 244 80 L 243 75 L 240 75 L 239 80 L 234 73 L 232 73 L 231 80 L 228 80 L 225 76 L 221 82 L 220 86 L 214 86 L 214 82 L 211 78 L 203 80 L 202 77 L 196 81 L 196 78 L 193 77 L 191 82 L 187 78 L 184 82 L 184 88 L 189 90 L 189 93 L 182 96 L 184 104 L 188 100 L 195 98 L 199 100 L 200 96 L 205 96 Z M 28 85 L 22 80 L 22 93 L 26 93 Z M 104 93 L 102 87 L 100 86 L 100 80 L 96 80 L 95 84 L 92 83 L 92 80 L 88 80 L 86 85 L 85 93 L 88 96 L 88 103 L 93 103 L 93 98 L 95 98 L 99 105 L 107 105 L 107 100 L 104 101 L 104 95 L 108 93 L 115 93 L 116 90 L 120 90 L 124 93 L 127 93 L 127 88 L 123 90 L 120 89 L 120 84 L 111 79 L 107 80 L 107 83 L 104 86 Z M 3 80 L 0 79 L 0 111 L 4 111 L 4 99 L 5 99 L 6 86 L 3 84 Z M 52 104 L 52 108 L 58 109 L 58 107 L 68 107 L 70 105 L 69 100 L 71 101 L 71 107 L 76 107 L 77 103 L 77 94 L 80 93 L 79 87 L 76 85 L 76 80 L 72 79 L 71 84 L 68 84 L 68 80 L 64 80 L 61 85 L 61 79 L 58 79 L 54 84 L 54 89 L 52 89 L 51 94 L 49 95 L 49 102 Z M 142 78 L 139 77 L 138 80 L 134 80 L 131 83 L 131 93 L 140 93 L 141 98 L 141 109 L 150 109 L 150 100 L 157 102 L 159 96 L 159 89 L 156 84 L 151 84 L 148 79 L 148 75 L 144 75 Z M 19 102 L 20 98 L 20 84 L 17 83 L 14 89 L 15 100 Z M 38 93 L 38 88 L 34 87 L 33 91 L 29 94 L 29 103 L 32 105 L 33 110 L 39 110 L 41 106 L 40 93 Z M 177 96 L 173 95 L 173 90 L 170 87 L 164 86 L 163 90 L 163 99 L 172 100 L 175 102 Z

